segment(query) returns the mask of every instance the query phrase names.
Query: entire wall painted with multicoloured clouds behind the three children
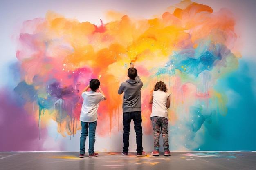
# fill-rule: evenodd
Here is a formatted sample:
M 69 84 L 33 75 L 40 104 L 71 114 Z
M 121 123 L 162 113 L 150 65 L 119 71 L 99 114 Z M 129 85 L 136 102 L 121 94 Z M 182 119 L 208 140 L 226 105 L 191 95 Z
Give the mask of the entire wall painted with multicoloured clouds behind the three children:
M 91 78 L 108 97 L 95 150 L 121 151 L 117 89 L 131 61 L 144 82 L 145 151 L 153 149 L 148 99 L 159 80 L 171 94 L 171 150 L 256 150 L 256 2 L 195 2 L 4 0 L 0 151 L 78 151 L 81 91 Z

